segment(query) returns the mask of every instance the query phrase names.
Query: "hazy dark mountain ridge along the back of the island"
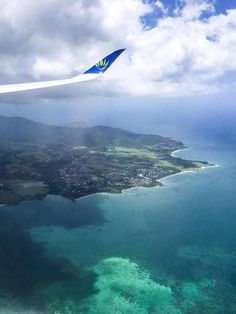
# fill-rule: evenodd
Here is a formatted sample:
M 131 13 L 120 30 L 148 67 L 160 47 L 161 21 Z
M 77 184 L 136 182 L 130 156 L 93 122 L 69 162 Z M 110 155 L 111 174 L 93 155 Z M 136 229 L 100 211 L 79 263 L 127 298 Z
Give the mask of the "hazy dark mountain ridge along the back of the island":
M 118 136 L 119 135 L 119 136 Z M 140 146 L 143 142 L 153 145 L 156 141 L 176 141 L 153 134 L 139 134 L 104 125 L 80 128 L 47 125 L 23 117 L 0 116 L 0 143 L 7 142 L 61 142 L 69 145 L 120 145 Z M 108 143 L 109 142 L 109 143 Z M 181 145 L 181 142 L 178 142 Z

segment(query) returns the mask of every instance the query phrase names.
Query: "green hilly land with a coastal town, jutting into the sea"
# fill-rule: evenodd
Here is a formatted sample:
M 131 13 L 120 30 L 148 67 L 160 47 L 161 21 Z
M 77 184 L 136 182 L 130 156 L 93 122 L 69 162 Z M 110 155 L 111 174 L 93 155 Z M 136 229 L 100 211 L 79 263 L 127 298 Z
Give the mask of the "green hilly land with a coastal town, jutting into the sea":
M 159 179 L 210 166 L 172 156 L 184 144 L 97 126 L 56 127 L 0 117 L 0 204 L 60 194 L 71 199 L 161 185 Z

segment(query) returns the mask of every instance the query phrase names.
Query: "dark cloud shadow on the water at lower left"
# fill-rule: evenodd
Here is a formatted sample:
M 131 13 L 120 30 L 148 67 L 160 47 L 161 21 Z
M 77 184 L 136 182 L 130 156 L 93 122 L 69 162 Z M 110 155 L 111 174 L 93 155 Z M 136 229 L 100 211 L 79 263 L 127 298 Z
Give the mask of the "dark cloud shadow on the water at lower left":
M 96 276 L 82 271 L 68 260 L 48 255 L 33 242 L 35 226 L 78 228 L 100 225 L 104 217 L 98 204 L 81 206 L 62 197 L 0 208 L 0 292 L 22 306 L 45 311 L 51 298 L 78 301 L 94 293 Z

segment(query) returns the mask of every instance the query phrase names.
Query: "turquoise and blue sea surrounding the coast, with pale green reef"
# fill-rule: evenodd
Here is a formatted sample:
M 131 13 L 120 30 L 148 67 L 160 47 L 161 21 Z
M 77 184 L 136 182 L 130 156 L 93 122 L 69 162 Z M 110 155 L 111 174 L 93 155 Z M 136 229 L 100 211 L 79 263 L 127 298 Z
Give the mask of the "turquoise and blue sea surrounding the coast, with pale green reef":
M 236 146 L 226 144 L 188 139 L 178 156 L 219 167 L 161 188 L 1 207 L 2 309 L 236 313 Z

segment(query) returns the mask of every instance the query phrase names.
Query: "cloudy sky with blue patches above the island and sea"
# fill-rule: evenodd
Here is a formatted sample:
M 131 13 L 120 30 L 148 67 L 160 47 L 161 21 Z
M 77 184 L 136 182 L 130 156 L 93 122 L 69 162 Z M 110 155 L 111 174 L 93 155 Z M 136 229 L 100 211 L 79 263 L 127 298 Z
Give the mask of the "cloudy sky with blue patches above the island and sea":
M 0 0 L 0 8 L 0 84 L 68 78 L 126 48 L 97 81 L 0 95 L 0 115 L 96 124 L 153 104 L 235 101 L 233 0 Z

